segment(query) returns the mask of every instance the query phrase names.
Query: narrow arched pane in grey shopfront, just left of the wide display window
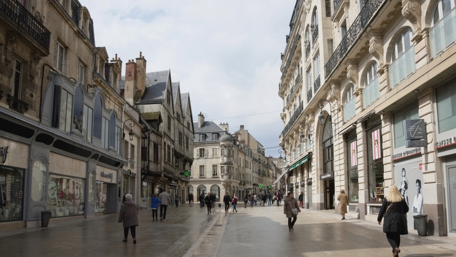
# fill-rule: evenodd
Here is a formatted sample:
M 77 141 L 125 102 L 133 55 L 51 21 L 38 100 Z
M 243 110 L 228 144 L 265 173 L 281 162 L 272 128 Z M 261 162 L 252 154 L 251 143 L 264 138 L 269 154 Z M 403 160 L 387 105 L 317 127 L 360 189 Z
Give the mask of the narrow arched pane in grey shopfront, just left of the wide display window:
M 32 170 L 32 191 L 31 201 L 45 201 L 46 200 L 46 177 L 48 176 L 48 169 L 43 160 L 38 159 L 33 162 Z

